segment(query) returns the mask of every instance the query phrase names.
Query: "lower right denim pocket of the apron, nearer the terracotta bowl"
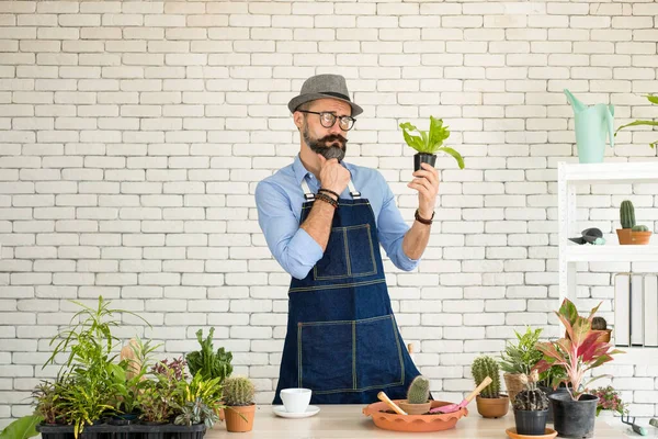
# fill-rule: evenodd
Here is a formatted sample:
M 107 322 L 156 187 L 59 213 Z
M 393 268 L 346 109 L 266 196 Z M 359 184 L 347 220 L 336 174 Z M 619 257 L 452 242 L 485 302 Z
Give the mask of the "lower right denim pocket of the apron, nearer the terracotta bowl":
M 402 347 L 393 315 L 356 322 L 356 386 L 362 390 L 405 382 Z

